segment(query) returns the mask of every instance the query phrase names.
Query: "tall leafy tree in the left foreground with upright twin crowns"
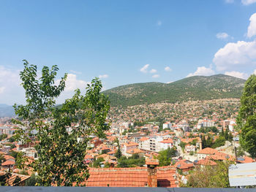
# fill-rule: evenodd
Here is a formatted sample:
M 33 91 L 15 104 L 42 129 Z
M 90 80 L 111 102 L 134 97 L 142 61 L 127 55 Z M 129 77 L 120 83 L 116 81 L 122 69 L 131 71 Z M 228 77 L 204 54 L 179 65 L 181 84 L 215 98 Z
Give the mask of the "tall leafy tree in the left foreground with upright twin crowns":
M 12 121 L 26 127 L 16 131 L 18 140 L 34 142 L 36 138 L 39 141 L 35 146 L 38 160 L 32 164 L 38 173 L 38 185 L 83 185 L 89 177 L 83 164 L 89 136 L 105 137 L 110 105 L 108 98 L 100 93 L 102 83 L 95 78 L 88 84 L 84 96 L 78 89 L 71 99 L 56 107 L 56 98 L 64 91 L 67 79 L 65 74 L 56 83 L 58 70 L 57 66 L 43 66 L 42 77 L 37 77 L 37 66 L 24 60 L 20 78 L 26 92 L 26 105 L 14 105 L 16 115 L 23 121 Z

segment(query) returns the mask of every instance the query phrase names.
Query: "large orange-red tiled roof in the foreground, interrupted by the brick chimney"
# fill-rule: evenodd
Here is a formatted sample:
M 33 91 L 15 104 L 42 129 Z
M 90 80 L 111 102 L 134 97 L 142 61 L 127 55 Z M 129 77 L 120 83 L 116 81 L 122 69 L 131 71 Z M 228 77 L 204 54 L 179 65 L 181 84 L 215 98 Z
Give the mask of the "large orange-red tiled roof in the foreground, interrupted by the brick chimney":
M 89 169 L 88 187 L 145 187 L 148 184 L 146 167 Z M 159 187 L 177 187 L 173 166 L 157 167 Z

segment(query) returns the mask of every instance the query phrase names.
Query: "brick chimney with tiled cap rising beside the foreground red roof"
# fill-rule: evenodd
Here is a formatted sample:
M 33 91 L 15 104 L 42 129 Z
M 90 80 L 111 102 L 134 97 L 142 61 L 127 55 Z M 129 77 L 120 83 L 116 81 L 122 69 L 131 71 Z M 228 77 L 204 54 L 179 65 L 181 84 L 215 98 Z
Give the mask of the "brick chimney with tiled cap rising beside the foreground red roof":
M 157 165 L 158 159 L 148 159 L 146 161 L 148 167 L 148 187 L 157 188 Z

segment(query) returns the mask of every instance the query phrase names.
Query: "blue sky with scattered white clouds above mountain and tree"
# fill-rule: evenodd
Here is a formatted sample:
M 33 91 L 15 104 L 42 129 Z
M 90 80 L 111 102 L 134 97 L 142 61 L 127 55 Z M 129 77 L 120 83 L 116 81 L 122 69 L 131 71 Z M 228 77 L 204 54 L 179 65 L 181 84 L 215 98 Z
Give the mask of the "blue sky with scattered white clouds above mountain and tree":
M 23 104 L 29 64 L 67 73 L 57 103 L 85 90 L 193 75 L 256 73 L 256 0 L 1 0 L 0 104 Z

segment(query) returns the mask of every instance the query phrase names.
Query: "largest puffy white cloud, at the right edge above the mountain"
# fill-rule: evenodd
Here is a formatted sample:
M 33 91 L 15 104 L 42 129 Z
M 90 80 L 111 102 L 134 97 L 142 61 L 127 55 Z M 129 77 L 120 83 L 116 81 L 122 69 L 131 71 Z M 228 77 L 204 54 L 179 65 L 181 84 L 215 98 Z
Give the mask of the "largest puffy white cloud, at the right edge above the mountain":
M 256 41 L 229 42 L 215 53 L 213 61 L 219 71 L 255 65 Z

